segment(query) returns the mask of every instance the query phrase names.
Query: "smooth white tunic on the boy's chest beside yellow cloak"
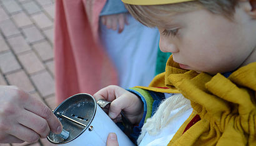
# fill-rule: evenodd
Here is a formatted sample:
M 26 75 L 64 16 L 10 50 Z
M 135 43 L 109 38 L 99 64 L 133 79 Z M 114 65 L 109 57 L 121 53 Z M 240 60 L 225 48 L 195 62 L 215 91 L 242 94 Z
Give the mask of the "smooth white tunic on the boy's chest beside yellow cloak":
M 166 98 L 169 98 L 171 94 L 165 94 Z M 172 99 L 171 96 L 170 99 Z M 175 99 L 172 99 L 173 101 Z M 171 101 L 170 101 L 171 102 Z M 175 109 L 170 112 L 170 117 L 175 116 L 179 111 L 185 108 L 185 106 L 181 106 L 178 109 Z M 155 112 L 157 113 L 157 112 Z M 169 124 L 160 130 L 159 134 L 157 135 L 149 135 L 148 133 L 145 134 L 144 138 L 140 142 L 139 146 L 166 146 L 169 144 L 172 137 L 174 137 L 177 130 L 179 130 L 180 126 L 189 118 L 190 114 L 192 113 L 192 107 L 190 107 L 187 111 L 183 112 L 178 117 L 175 117 L 174 120 L 170 121 Z

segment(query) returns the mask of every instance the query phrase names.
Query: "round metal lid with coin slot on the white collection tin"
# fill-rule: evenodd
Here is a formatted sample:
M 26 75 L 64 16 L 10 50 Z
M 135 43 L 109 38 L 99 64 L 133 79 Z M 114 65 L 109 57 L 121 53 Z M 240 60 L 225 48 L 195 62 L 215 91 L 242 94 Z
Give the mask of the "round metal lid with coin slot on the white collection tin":
M 61 134 L 50 132 L 47 139 L 53 144 L 65 144 L 76 139 L 91 124 L 96 113 L 96 101 L 86 93 L 67 98 L 54 109 L 54 114 L 63 125 Z

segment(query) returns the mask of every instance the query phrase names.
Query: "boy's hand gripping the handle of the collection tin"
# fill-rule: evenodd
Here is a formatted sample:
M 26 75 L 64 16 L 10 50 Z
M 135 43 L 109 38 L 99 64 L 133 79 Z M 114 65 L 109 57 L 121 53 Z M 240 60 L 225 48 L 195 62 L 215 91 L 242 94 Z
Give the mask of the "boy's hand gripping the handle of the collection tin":
M 121 121 L 120 112 L 124 114 L 132 124 L 138 124 L 143 116 L 143 103 L 135 95 L 119 86 L 107 86 L 94 94 L 97 100 L 105 99 L 112 101 L 109 108 L 109 117 L 115 122 Z

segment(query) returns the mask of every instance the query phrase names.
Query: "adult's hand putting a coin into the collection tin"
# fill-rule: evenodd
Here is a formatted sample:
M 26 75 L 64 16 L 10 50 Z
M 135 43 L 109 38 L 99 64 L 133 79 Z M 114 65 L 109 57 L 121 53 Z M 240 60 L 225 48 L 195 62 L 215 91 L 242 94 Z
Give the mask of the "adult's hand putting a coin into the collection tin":
M 16 86 L 0 86 L 0 143 L 36 142 L 62 125 L 45 104 Z

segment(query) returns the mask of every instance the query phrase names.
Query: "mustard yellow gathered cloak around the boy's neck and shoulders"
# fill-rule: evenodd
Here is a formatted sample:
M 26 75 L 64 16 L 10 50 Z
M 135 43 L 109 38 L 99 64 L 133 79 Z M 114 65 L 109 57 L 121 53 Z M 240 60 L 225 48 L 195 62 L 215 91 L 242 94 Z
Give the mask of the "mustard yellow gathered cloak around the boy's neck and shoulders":
M 182 93 L 194 109 L 169 145 L 256 145 L 256 62 L 225 78 L 182 70 L 170 57 L 165 73 L 139 88 L 164 90 L 156 86 Z M 201 120 L 182 134 L 195 114 Z

